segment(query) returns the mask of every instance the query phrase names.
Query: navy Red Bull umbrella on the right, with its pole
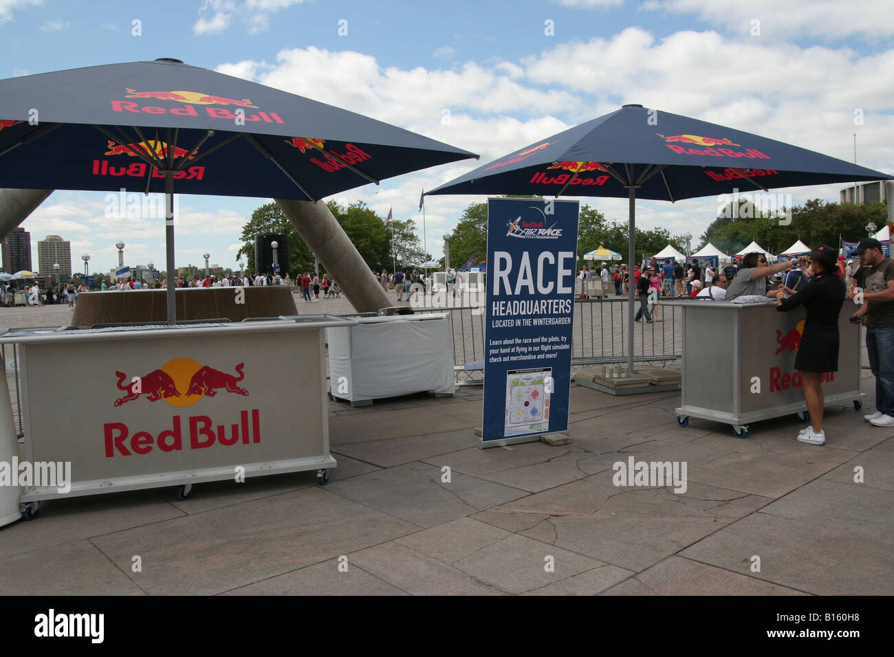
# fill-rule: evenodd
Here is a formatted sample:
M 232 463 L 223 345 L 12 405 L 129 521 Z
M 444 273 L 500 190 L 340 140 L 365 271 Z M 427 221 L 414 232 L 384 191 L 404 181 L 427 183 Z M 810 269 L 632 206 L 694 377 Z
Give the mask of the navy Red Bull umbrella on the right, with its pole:
M 479 166 L 436 194 L 537 194 L 629 198 L 628 262 L 634 262 L 636 198 L 678 201 L 734 190 L 894 180 L 863 166 L 775 139 L 679 114 L 624 105 Z M 634 286 L 628 305 L 633 344 Z M 628 354 L 632 372 L 633 350 Z

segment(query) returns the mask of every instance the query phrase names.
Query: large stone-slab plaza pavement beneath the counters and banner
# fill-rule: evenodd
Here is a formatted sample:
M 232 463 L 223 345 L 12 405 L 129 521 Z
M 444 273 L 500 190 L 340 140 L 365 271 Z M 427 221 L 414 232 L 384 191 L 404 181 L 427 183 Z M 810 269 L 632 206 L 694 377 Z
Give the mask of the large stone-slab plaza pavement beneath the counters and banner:
M 343 297 L 297 305 L 351 311 Z M 0 308 L 2 326 L 70 318 Z M 872 412 L 868 370 L 863 390 Z M 825 446 L 797 442 L 794 417 L 737 440 L 729 425 L 679 427 L 677 405 L 679 392 L 572 385 L 569 445 L 480 450 L 480 388 L 330 403 L 329 484 L 310 472 L 198 484 L 189 501 L 173 488 L 46 501 L 0 528 L 0 581 L 5 594 L 894 594 L 894 429 L 848 403 L 827 407 Z M 687 462 L 686 492 L 615 486 L 630 456 Z

